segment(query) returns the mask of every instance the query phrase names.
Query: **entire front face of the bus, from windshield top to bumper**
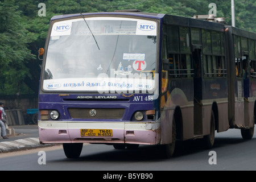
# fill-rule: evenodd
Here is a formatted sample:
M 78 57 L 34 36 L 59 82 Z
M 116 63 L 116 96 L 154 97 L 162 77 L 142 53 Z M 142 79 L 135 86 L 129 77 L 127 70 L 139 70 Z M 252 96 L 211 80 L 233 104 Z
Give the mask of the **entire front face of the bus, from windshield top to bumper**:
M 159 143 L 159 20 L 52 20 L 42 64 L 42 143 Z

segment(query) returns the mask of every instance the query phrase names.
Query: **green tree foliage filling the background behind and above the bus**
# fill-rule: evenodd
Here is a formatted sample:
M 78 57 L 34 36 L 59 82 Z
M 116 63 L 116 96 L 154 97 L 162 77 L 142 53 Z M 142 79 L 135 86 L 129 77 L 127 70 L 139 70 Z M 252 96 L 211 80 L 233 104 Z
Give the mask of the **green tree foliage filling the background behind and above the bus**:
M 213 1 L 205 0 L 0 0 L 0 94 L 37 93 L 41 61 L 38 49 L 44 47 L 53 15 L 139 9 L 192 17 L 208 14 Z M 256 2 L 234 0 L 236 26 L 256 32 Z M 46 16 L 38 16 L 39 3 L 45 3 Z M 217 16 L 231 24 L 231 1 L 215 0 Z

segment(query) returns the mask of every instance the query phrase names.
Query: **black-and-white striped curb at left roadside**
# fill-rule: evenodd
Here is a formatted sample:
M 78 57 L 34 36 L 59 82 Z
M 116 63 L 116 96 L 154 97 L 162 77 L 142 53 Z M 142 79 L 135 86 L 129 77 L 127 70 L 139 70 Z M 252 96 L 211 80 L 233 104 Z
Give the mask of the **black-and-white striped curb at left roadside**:
M 24 149 L 53 146 L 53 144 L 40 144 L 39 138 L 24 138 L 10 142 L 0 142 L 0 153 L 12 152 Z

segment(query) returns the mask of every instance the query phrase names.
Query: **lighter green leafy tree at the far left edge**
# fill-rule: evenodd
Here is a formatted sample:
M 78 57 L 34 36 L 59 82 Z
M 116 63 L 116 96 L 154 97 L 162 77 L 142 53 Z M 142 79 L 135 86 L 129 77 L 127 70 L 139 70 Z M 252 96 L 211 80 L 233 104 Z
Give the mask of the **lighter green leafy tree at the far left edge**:
M 30 32 L 23 27 L 13 0 L 0 2 L 0 94 L 19 92 L 28 72 L 26 60 L 33 59 L 28 43 Z

